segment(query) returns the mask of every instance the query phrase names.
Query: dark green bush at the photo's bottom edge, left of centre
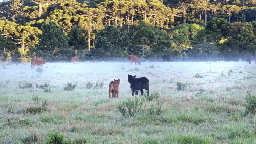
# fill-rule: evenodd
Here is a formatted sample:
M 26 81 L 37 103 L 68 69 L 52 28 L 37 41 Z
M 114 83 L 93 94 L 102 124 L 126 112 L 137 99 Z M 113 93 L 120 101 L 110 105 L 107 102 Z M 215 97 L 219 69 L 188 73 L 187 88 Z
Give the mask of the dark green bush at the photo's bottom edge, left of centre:
M 51 132 L 44 144 L 71 144 L 71 141 L 65 140 L 63 134 L 58 132 Z

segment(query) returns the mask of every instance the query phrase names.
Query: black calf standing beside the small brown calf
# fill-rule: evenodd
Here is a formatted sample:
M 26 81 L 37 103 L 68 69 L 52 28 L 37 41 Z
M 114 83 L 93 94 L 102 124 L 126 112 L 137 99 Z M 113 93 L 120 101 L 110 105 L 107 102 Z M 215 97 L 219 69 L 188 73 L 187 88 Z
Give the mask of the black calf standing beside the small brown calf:
M 132 90 L 132 96 L 138 95 L 139 90 L 141 91 L 141 95 L 144 94 L 143 89 L 147 91 L 147 96 L 149 96 L 149 79 L 146 77 L 135 78 L 135 76 L 128 75 L 128 82 L 130 83 L 130 88 Z

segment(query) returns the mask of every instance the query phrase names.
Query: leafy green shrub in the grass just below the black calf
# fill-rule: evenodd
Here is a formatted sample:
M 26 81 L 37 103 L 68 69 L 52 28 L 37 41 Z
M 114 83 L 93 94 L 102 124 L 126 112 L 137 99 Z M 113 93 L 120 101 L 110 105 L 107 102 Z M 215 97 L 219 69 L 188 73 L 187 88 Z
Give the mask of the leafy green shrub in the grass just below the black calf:
M 145 102 L 145 97 L 126 98 L 117 106 L 117 110 L 121 112 L 122 116 L 128 118 L 133 117 L 141 111 L 142 105 Z

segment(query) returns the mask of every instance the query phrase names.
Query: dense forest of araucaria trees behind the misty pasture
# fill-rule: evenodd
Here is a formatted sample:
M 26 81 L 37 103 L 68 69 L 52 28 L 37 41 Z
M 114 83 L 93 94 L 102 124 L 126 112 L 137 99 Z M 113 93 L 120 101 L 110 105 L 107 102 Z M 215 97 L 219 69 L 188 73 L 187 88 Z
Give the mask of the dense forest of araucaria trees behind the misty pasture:
M 256 0 L 3 0 L 0 58 L 255 58 Z M 78 54 L 75 54 L 78 50 Z

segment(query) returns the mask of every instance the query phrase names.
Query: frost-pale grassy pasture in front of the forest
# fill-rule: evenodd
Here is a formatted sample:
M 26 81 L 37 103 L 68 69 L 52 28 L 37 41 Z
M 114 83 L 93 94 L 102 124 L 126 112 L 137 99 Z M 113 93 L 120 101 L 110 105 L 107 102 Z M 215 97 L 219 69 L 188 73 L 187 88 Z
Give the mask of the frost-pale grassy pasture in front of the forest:
M 51 132 L 63 134 L 74 144 L 256 143 L 256 116 L 247 115 L 245 107 L 247 91 L 256 95 L 254 63 L 43 66 L 42 72 L 38 66 L 30 69 L 28 63 L 1 63 L 1 144 L 45 143 Z M 146 76 L 150 94 L 159 94 L 159 98 L 146 100 L 130 118 L 116 108 L 132 97 L 128 74 Z M 109 99 L 109 83 L 118 78 L 120 97 Z M 73 91 L 64 90 L 68 82 L 77 84 Z

